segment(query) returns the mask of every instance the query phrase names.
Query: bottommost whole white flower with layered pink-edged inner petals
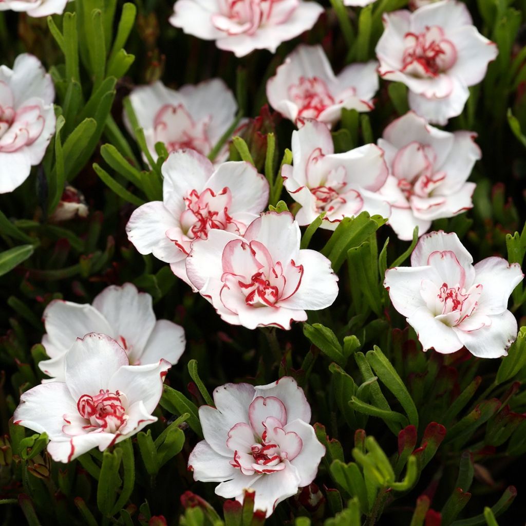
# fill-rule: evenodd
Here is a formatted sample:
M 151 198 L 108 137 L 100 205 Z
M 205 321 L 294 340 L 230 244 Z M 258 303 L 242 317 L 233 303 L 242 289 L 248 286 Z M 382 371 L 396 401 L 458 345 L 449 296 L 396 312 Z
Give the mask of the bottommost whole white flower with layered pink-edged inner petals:
M 284 377 L 266 386 L 227 383 L 214 390 L 214 403 L 199 408 L 205 440 L 190 453 L 188 468 L 195 480 L 220 482 L 220 497 L 242 502 L 245 489 L 255 490 L 254 508 L 269 517 L 314 480 L 325 454 L 305 394 Z

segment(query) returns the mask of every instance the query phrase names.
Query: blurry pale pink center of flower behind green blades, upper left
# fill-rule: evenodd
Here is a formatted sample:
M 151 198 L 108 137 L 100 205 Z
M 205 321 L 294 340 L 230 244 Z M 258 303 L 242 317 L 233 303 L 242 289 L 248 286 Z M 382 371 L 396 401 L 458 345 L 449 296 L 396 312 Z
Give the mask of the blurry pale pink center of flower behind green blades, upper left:
M 164 143 L 169 153 L 191 149 L 208 155 L 212 145 L 207 129 L 208 120 L 196 123 L 182 104 L 165 104 L 154 118 L 155 143 Z

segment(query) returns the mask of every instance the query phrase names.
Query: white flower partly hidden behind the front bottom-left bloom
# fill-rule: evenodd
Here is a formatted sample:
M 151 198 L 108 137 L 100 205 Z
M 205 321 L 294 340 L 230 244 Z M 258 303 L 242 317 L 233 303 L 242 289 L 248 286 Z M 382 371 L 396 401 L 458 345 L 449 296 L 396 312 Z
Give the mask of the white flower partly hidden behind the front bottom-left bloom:
M 130 365 L 177 363 L 185 350 L 185 331 L 176 323 L 156 320 L 151 296 L 135 285 L 110 285 L 93 305 L 53 300 L 44 310 L 46 333 L 42 345 L 49 360 L 38 363 L 46 375 L 64 381 L 64 360 L 77 338 L 100 332 L 114 338 L 126 351 Z

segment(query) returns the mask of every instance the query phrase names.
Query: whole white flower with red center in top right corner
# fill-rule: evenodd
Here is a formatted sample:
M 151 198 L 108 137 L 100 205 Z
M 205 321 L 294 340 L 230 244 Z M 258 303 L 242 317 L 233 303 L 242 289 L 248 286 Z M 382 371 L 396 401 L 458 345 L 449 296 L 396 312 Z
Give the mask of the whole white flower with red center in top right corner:
M 409 106 L 430 123 L 446 124 L 462 113 L 468 86 L 478 84 L 497 46 L 483 37 L 466 4 L 442 0 L 413 13 L 383 15 L 376 55 L 380 76 L 409 88 Z

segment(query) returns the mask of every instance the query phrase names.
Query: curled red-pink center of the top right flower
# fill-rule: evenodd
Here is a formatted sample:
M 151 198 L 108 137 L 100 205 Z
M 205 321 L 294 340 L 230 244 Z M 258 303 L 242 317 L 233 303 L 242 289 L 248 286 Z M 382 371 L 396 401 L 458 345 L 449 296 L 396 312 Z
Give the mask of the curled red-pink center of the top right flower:
M 421 78 L 434 78 L 457 62 L 457 50 L 444 38 L 439 26 L 426 27 L 422 33 L 404 35 L 402 71 Z

